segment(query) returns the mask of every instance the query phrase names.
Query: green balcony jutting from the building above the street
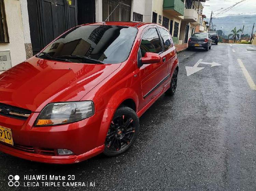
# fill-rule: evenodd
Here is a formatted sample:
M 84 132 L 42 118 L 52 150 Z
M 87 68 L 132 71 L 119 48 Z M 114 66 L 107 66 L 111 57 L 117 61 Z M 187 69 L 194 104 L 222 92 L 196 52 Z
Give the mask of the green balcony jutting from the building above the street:
M 177 16 L 184 15 L 184 0 L 163 0 L 163 10 Z

